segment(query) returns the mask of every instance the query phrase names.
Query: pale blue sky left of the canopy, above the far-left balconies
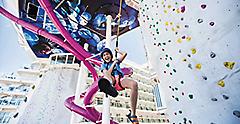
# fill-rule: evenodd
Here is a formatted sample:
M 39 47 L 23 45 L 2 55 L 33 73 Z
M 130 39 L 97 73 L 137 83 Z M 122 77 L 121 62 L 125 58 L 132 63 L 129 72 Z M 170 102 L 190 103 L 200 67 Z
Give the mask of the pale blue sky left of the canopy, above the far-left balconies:
M 0 5 L 2 6 L 1 1 Z M 2 15 L 0 15 L 0 27 L 0 73 L 15 72 L 20 67 L 29 65 L 31 59 L 20 47 L 12 23 Z

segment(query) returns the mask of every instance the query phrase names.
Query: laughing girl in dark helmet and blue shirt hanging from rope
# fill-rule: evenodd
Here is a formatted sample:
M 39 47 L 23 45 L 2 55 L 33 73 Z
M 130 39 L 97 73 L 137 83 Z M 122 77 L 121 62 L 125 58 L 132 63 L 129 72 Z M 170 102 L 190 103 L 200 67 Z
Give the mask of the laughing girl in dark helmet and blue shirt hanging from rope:
M 103 72 L 104 76 L 107 77 L 110 81 L 112 81 L 113 86 L 116 90 L 121 91 L 125 88 L 131 90 L 130 92 L 130 101 L 131 101 L 131 111 L 127 115 L 129 120 L 133 124 L 138 124 L 138 119 L 136 116 L 136 105 L 138 99 L 138 84 L 136 81 L 124 78 L 124 74 L 120 68 L 120 63 L 126 58 L 127 53 L 121 52 L 118 48 L 115 49 L 117 53 L 120 54 L 119 58 L 113 60 L 113 54 L 110 49 L 104 48 L 101 53 L 101 58 L 103 59 L 103 63 L 101 65 L 101 72 Z

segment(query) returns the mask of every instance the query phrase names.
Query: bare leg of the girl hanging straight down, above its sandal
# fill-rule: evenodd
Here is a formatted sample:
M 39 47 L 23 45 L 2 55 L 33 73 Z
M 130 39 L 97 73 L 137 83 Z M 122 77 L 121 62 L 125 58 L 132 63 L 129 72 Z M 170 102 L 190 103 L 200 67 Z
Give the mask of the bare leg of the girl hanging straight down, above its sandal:
M 130 92 L 130 102 L 131 102 L 131 110 L 132 115 L 136 115 L 136 106 L 137 106 L 137 99 L 138 99 L 138 84 L 134 80 L 130 79 L 123 79 L 121 82 L 124 88 L 131 89 Z

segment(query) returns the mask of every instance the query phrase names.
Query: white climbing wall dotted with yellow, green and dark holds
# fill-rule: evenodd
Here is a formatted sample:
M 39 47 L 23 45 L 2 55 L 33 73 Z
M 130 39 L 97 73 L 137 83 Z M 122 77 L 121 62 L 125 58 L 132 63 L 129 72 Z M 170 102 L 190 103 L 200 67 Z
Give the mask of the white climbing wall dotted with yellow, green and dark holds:
M 240 123 L 240 1 L 139 0 L 172 124 Z

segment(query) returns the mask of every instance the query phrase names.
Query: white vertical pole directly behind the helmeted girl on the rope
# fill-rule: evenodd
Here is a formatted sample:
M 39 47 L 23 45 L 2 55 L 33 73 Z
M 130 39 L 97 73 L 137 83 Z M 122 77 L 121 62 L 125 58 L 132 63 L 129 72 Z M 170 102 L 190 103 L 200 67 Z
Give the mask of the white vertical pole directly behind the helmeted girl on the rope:
M 112 17 L 110 15 L 107 16 L 107 29 L 106 29 L 106 46 L 110 48 L 111 43 L 111 21 Z M 103 111 L 102 111 L 102 124 L 110 124 L 110 98 L 107 95 L 103 97 Z

